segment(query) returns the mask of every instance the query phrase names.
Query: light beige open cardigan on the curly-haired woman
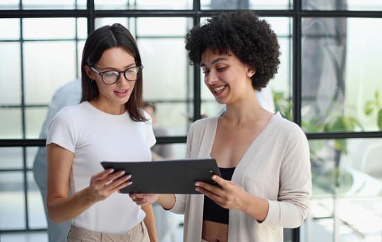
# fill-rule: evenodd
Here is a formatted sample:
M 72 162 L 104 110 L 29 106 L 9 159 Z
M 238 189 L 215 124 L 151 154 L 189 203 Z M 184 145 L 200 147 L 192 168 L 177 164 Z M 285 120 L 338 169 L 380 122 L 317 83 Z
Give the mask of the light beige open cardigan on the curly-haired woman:
M 211 153 L 218 116 L 193 123 L 187 137 L 187 158 L 206 158 Z M 247 192 L 269 202 L 266 219 L 229 210 L 228 241 L 283 241 L 283 227 L 298 227 L 309 212 L 311 164 L 309 145 L 297 124 L 276 113 L 252 142 L 238 163 L 232 180 Z M 171 212 L 184 214 L 184 241 L 201 240 L 202 195 L 176 194 Z

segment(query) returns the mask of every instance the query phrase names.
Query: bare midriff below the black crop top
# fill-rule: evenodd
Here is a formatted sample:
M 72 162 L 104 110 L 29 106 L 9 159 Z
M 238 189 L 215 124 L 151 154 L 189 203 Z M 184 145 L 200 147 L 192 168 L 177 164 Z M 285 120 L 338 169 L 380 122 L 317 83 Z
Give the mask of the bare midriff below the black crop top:
M 202 239 L 209 242 L 227 242 L 228 225 L 212 221 L 203 221 Z

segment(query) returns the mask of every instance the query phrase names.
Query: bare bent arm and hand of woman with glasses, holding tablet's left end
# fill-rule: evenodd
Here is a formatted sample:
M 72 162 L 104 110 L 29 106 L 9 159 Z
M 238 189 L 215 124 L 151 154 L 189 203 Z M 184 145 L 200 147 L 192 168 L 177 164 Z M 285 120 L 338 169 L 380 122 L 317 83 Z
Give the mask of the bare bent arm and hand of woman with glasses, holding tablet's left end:
M 90 185 L 68 196 L 69 176 L 74 153 L 54 143 L 47 146 L 48 178 L 46 207 L 49 218 L 55 223 L 68 221 L 104 200 L 119 189 L 130 185 L 130 176 L 107 169 L 90 178 Z

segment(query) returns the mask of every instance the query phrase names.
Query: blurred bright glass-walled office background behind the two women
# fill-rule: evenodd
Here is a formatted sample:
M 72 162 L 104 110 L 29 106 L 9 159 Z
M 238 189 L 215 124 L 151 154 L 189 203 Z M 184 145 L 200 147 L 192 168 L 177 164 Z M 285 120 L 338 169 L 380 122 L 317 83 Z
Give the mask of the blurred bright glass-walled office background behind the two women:
M 33 159 L 53 93 L 80 77 L 89 32 L 115 22 L 130 29 L 144 64 L 144 100 L 157 104 L 155 125 L 168 130 L 157 143 L 184 158 L 189 124 L 223 109 L 189 65 L 184 36 L 237 9 L 256 11 L 277 33 L 275 109 L 309 138 L 311 212 L 284 241 L 381 242 L 380 0 L 1 0 L 0 241 L 23 234 L 46 241 Z

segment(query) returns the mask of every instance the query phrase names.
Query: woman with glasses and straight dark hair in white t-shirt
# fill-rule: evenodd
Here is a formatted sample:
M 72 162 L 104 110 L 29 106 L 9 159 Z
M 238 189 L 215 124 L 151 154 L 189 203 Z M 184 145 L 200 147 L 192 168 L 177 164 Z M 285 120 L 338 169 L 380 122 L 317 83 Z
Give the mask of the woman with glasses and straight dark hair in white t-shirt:
M 87 38 L 80 104 L 61 109 L 46 138 L 47 209 L 55 223 L 71 220 L 68 241 L 157 241 L 151 205 L 118 192 L 130 176 L 101 166 L 151 159 L 155 136 L 142 109 L 142 69 L 137 44 L 120 24 Z

